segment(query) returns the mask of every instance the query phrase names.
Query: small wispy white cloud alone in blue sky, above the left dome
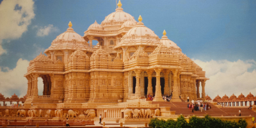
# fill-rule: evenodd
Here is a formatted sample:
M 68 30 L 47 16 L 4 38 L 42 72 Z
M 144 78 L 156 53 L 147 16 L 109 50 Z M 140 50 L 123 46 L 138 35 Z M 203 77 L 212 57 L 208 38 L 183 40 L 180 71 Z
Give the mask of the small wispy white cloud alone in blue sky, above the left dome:
M 35 26 L 35 28 L 38 28 Z M 36 33 L 37 36 L 47 36 L 49 33 L 52 33 L 54 31 L 58 31 L 58 28 L 54 27 L 52 24 L 49 24 L 48 26 L 40 27 Z

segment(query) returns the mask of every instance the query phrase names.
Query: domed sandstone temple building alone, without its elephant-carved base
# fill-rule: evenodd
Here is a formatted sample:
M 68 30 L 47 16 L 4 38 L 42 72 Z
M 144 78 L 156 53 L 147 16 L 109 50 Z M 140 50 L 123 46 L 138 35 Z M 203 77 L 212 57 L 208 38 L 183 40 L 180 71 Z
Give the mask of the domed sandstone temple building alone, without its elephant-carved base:
M 126 102 L 147 94 L 154 101 L 205 99 L 205 72 L 166 36 L 159 38 L 140 16 L 137 22 L 118 3 L 115 12 L 77 34 L 68 29 L 31 60 L 25 104 Z M 92 45 L 92 40 L 99 42 Z M 38 95 L 38 77 L 44 81 Z M 199 86 L 202 90 L 199 91 Z M 200 93 L 202 92 L 202 93 Z M 180 99 L 181 97 L 181 99 Z

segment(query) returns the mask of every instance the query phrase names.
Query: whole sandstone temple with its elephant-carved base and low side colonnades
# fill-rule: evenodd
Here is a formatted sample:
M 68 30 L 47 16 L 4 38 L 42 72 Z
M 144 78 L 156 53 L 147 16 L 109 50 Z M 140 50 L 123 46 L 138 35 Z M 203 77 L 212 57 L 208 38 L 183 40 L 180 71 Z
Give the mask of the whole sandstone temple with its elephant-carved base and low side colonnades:
M 248 126 L 252 126 L 252 116 L 256 116 L 252 94 L 212 100 L 205 95 L 205 82 L 209 80 L 205 71 L 168 39 L 167 32 L 163 30 L 159 38 L 143 24 L 141 15 L 136 21 L 124 12 L 120 1 L 117 5 L 115 12 L 100 24 L 95 21 L 83 36 L 69 22 L 67 31 L 29 62 L 24 75 L 28 79 L 26 96 L 5 98 L 0 93 L 0 102 L 24 103 L 0 106 L 0 125 L 62 126 L 70 118 L 72 126 L 102 127 L 95 124 L 100 115 L 104 122 L 120 123 L 120 127 L 147 127 L 150 118 L 177 120 L 180 115 L 186 120 L 192 115 L 211 115 L 238 122 L 241 116 L 236 115 L 241 109 Z M 44 83 L 42 95 L 38 95 L 38 77 Z M 170 102 L 164 102 L 163 95 L 171 95 Z M 191 100 L 211 108 L 201 112 L 195 105 L 192 112 L 188 108 Z M 242 101 L 245 106 L 221 106 Z M 253 108 L 248 109 L 248 101 L 254 103 Z

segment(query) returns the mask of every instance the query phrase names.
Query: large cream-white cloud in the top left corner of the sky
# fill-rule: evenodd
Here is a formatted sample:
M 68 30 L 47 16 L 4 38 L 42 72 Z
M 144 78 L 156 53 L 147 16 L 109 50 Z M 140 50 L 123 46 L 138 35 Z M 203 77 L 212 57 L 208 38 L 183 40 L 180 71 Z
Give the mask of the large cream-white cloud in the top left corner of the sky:
M 6 53 L 2 42 L 20 38 L 35 17 L 33 0 L 4 0 L 0 4 L 0 55 Z

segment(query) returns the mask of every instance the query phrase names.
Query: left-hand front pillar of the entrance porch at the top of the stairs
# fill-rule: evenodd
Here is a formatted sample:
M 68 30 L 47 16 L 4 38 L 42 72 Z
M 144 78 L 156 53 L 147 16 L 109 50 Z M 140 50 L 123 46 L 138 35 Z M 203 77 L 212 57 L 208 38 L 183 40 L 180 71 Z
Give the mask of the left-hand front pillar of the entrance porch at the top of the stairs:
M 161 68 L 154 68 L 156 72 L 156 95 L 154 97 L 153 101 L 164 101 L 161 93 L 161 84 L 160 84 L 160 73 L 161 73 Z

